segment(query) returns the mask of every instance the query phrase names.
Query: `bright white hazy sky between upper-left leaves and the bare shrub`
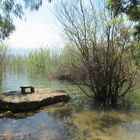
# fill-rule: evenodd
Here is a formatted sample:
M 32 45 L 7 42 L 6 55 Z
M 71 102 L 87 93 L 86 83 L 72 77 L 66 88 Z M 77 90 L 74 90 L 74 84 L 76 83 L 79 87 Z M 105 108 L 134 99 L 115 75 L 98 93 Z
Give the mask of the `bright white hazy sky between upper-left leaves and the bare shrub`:
M 16 31 L 9 39 L 8 45 L 16 48 L 63 47 L 62 30 L 53 15 L 55 3 L 45 1 L 39 11 L 26 11 L 22 20 L 14 19 Z

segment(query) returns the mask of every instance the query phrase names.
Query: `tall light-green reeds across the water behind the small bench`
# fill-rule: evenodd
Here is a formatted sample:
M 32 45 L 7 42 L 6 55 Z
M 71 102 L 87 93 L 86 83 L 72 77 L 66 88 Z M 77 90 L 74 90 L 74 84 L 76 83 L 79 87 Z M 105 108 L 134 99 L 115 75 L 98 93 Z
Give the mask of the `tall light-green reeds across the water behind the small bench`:
M 10 54 L 7 70 L 12 73 L 27 72 L 31 76 L 38 74 L 52 78 L 52 73 L 55 75 L 58 67 L 57 62 L 58 58 L 53 58 L 49 49 L 36 49 L 26 56 Z

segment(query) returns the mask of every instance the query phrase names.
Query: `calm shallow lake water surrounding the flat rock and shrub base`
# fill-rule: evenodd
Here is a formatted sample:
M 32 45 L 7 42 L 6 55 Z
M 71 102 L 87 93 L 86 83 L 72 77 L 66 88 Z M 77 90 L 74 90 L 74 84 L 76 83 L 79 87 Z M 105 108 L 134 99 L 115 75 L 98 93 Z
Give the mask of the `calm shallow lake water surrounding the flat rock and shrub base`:
M 66 90 L 72 99 L 36 112 L 0 113 L 0 140 L 140 139 L 140 96 L 130 100 L 128 108 L 105 110 L 89 101 L 76 86 L 24 72 L 7 74 L 0 93 L 19 90 L 21 85 Z

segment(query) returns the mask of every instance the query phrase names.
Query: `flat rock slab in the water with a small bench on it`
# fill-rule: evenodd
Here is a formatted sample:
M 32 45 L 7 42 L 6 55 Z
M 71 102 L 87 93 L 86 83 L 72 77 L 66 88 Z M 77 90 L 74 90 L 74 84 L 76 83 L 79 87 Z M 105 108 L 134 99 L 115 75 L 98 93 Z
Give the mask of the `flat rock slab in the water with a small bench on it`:
M 34 93 L 23 94 L 11 91 L 0 94 L 0 111 L 24 112 L 37 110 L 40 107 L 67 102 L 69 95 L 62 90 L 35 89 Z

